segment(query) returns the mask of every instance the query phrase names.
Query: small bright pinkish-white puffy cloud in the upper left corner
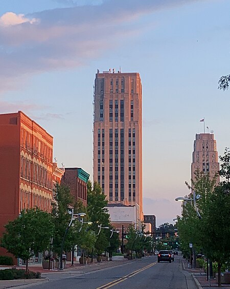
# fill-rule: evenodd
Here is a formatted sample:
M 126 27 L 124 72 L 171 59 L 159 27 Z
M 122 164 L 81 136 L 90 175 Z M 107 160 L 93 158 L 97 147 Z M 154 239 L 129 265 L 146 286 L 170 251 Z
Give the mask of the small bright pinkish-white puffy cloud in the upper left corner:
M 13 12 L 7 12 L 0 17 L 0 25 L 1 26 L 14 26 L 22 23 L 30 23 L 33 24 L 37 22 L 38 19 L 36 18 L 26 18 L 24 14 L 15 14 Z

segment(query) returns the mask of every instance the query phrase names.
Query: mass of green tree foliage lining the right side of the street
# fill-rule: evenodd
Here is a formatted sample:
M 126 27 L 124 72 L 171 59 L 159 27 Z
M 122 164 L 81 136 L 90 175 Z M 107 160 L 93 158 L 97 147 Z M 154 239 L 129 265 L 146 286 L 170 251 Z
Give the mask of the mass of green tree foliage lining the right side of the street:
M 201 195 L 197 200 L 201 218 L 197 218 L 193 205 L 187 204 L 183 207 L 182 217 L 177 222 L 183 253 L 187 254 L 189 242 L 192 242 L 196 249 L 202 248 L 206 257 L 218 263 L 219 286 L 221 264 L 230 258 L 229 149 L 225 149 L 224 156 L 220 157 L 220 160 L 222 164 L 219 175 L 224 180 L 218 185 L 216 185 L 216 177 L 211 178 L 209 174 L 204 175 L 199 171 L 196 172 L 196 179 L 192 180 L 193 190 Z

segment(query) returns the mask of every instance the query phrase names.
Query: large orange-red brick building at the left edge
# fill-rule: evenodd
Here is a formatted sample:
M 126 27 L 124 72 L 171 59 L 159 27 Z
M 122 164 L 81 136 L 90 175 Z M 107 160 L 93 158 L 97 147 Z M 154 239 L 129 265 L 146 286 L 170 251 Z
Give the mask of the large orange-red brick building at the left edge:
M 52 159 L 53 137 L 35 121 L 21 111 L 0 115 L 0 236 L 22 210 L 51 212 Z

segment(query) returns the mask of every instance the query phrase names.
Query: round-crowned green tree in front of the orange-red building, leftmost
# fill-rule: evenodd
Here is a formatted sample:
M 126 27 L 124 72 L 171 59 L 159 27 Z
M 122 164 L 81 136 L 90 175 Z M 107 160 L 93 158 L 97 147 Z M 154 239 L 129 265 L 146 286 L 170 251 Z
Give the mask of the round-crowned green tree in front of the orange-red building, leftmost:
M 16 258 L 26 260 L 28 273 L 28 260 L 35 253 L 45 251 L 49 247 L 54 232 L 51 214 L 39 209 L 22 211 L 21 215 L 5 225 L 5 228 L 1 246 Z

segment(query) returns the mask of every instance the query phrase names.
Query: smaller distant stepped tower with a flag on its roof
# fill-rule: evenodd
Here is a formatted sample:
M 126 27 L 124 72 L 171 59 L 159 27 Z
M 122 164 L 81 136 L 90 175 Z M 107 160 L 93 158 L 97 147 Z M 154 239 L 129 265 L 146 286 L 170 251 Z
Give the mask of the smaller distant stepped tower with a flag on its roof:
M 216 140 L 212 133 L 196 134 L 194 140 L 192 179 L 195 180 L 195 171 L 199 170 L 204 174 L 209 173 L 211 177 L 219 171 L 218 153 L 216 150 Z M 217 183 L 220 178 L 217 178 Z

